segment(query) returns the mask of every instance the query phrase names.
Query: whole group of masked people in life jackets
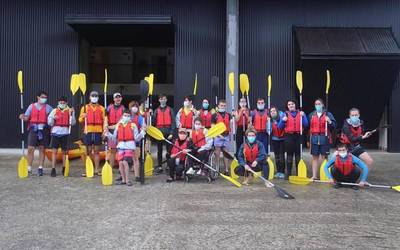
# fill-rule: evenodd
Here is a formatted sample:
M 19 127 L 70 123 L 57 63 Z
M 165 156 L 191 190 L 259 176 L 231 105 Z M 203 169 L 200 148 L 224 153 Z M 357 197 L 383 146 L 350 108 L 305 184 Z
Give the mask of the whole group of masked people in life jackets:
M 20 119 L 28 125 L 28 171 L 32 173 L 32 162 L 35 147 L 39 148 L 39 167 L 37 175 L 43 175 L 45 147 L 53 149 L 51 176 L 56 176 L 55 155 L 61 148 L 64 155 L 68 153 L 68 142 L 71 126 L 76 124 L 75 111 L 68 106 L 66 97 L 58 99 L 56 108 L 47 104 L 47 93 L 37 94 L 37 101 L 29 105 Z M 122 95 L 113 94 L 113 103 L 107 107 L 99 104 L 99 94 L 91 91 L 90 102 L 80 110 L 78 122 L 83 128 L 83 142 L 87 154 L 93 159 L 95 173 L 100 171 L 100 146 L 107 143 L 109 148 L 109 162 L 112 166 L 118 162 L 120 170 L 119 184 L 132 185 L 129 178 L 130 168 L 139 181 L 140 149 L 145 150 L 141 141 L 145 138 L 146 127 L 157 127 L 172 145 L 165 141 L 157 143 L 157 164 L 155 172 L 160 174 L 169 170 L 168 182 L 179 180 L 183 174 L 193 174 L 191 167 L 185 168 L 187 153 L 208 162 L 210 154 L 214 154 L 219 166 L 220 157 L 223 158 L 225 174 L 229 173 L 229 152 L 233 151 L 239 162 L 234 170 L 237 175 L 244 176 L 243 184 L 251 182 L 249 168 L 259 172 L 264 177 L 269 175 L 269 166 L 266 158 L 270 155 L 268 145 L 271 144 L 277 166 L 276 178 L 288 179 L 293 173 L 293 166 L 298 165 L 302 155 L 301 147 L 305 135 L 309 137 L 310 152 L 312 155 L 311 179 L 318 179 L 318 170 L 321 162 L 328 158 L 333 143 L 332 131 L 337 122 L 324 107 L 322 99 L 314 102 L 315 110 L 308 116 L 299 109 L 295 100 L 285 103 L 286 110 L 281 111 L 276 106 L 266 108 L 264 98 L 257 99 L 257 106 L 250 110 L 246 98 L 241 98 L 239 107 L 232 113 L 227 111 L 226 102 L 218 100 L 216 107 L 211 107 L 208 99 L 203 99 L 201 107 L 196 109 L 192 96 L 184 98 L 183 106 L 175 113 L 167 105 L 167 96 L 159 95 L 159 106 L 154 110 L 145 108 L 144 103 L 131 101 L 128 107 L 122 104 Z M 223 122 L 226 130 L 214 139 L 207 137 L 207 130 L 214 124 Z M 308 131 L 308 133 L 305 133 Z M 340 143 L 331 159 L 327 159 L 325 166 L 327 176 L 336 183 L 343 181 L 365 184 L 368 169 L 372 166 L 372 158 L 361 146 L 362 140 L 371 136 L 365 132 L 360 120 L 360 111 L 352 108 L 349 118 L 344 121 Z M 234 147 L 234 150 L 232 148 Z M 166 150 L 164 151 L 164 147 Z M 164 156 L 164 152 L 166 152 Z M 166 158 L 164 162 L 163 159 Z M 166 163 L 166 164 L 165 164 Z M 63 166 L 65 159 L 63 159 Z M 330 170 L 329 170 L 330 168 Z M 64 171 L 64 168 L 63 170 Z M 199 175 L 207 175 L 207 168 L 196 170 Z M 85 173 L 82 173 L 85 176 Z M 340 185 L 335 185 L 340 186 Z

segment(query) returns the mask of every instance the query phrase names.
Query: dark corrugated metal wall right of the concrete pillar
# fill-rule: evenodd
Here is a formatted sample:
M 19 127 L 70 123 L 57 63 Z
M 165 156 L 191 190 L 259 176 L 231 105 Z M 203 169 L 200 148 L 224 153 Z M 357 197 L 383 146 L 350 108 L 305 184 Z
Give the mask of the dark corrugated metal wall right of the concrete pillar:
M 400 39 L 400 1 L 396 0 L 246 0 L 240 1 L 239 13 L 239 71 L 249 74 L 250 95 L 254 98 L 266 96 L 266 76 L 271 73 L 272 102 L 279 107 L 295 95 L 293 26 L 392 27 L 395 37 Z M 393 129 L 389 140 L 396 151 L 400 151 L 399 97 L 397 87 L 392 94 Z

